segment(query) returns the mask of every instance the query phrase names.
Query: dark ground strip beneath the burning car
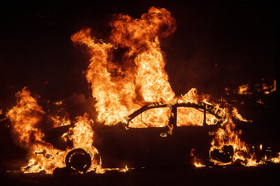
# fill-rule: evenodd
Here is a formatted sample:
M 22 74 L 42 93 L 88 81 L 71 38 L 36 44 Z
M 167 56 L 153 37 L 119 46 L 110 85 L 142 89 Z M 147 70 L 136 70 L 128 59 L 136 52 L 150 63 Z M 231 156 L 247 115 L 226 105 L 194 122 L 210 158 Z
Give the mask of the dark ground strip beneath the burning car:
M 142 168 L 56 178 L 52 174 L 24 174 L 20 166 L 26 164 L 26 160 L 2 160 L 1 163 L 3 185 L 278 185 L 280 172 L 280 164 L 271 163 L 258 167 Z

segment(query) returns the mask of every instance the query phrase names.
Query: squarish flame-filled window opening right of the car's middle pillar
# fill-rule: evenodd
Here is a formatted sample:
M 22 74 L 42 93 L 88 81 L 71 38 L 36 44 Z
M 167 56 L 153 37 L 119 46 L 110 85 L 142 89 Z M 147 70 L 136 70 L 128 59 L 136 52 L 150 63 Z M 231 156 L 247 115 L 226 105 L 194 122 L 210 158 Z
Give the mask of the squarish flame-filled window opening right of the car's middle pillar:
M 177 126 L 203 126 L 203 121 L 202 109 L 177 107 Z

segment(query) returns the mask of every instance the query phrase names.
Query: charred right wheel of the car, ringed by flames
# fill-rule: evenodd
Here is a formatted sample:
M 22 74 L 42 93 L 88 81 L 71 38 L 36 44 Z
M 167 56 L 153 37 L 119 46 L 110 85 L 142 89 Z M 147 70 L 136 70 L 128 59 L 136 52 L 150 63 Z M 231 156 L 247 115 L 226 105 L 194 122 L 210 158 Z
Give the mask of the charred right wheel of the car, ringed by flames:
M 231 145 L 224 145 L 221 149 L 214 149 L 210 153 L 210 158 L 218 162 L 228 163 L 233 158 L 233 147 Z

